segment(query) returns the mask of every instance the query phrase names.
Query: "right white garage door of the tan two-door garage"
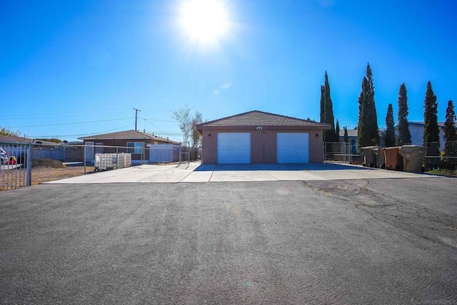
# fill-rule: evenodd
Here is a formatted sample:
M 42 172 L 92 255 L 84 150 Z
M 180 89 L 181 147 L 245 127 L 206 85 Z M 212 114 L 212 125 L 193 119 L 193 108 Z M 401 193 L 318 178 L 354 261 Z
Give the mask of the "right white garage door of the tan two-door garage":
M 276 135 L 278 163 L 309 162 L 309 133 L 277 133 Z

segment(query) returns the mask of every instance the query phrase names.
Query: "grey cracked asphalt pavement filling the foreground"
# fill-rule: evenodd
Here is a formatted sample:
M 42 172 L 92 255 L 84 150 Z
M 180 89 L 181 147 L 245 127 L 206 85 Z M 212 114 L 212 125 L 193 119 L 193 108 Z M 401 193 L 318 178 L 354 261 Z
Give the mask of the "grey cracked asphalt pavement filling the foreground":
M 456 304 L 457 179 L 0 193 L 1 304 Z

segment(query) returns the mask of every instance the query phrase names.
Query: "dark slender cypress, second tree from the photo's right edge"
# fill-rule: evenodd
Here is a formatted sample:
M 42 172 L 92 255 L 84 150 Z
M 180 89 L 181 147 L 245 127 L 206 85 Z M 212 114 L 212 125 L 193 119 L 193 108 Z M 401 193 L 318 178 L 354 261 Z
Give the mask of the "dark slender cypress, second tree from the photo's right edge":
M 438 116 L 436 115 L 438 113 L 438 103 L 436 103 L 436 95 L 433 93 L 430 81 L 427 83 L 424 108 L 423 144 L 428 147 L 429 143 L 438 142 L 439 150 L 440 130 L 438 128 Z

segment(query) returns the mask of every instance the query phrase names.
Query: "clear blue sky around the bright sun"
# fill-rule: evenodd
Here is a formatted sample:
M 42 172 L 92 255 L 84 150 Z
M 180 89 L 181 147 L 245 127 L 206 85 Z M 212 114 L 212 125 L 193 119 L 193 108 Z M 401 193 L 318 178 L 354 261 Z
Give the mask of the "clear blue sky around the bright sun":
M 230 27 L 205 46 L 179 26 L 180 0 L 0 0 L 0 125 L 76 140 L 134 129 L 181 140 L 172 111 L 205 120 L 250 110 L 319 118 L 328 71 L 333 111 L 354 128 L 366 63 L 378 125 L 406 83 L 423 120 L 457 101 L 456 1 L 224 0 Z

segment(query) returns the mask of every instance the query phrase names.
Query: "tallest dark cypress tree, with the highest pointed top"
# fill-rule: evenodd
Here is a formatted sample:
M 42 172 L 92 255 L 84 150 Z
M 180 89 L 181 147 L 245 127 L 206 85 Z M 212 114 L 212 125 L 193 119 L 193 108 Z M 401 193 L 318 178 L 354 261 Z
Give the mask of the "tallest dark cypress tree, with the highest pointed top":
M 374 101 L 373 73 L 370 64 L 366 65 L 362 90 L 358 95 L 358 147 L 379 145 L 378 115 Z

